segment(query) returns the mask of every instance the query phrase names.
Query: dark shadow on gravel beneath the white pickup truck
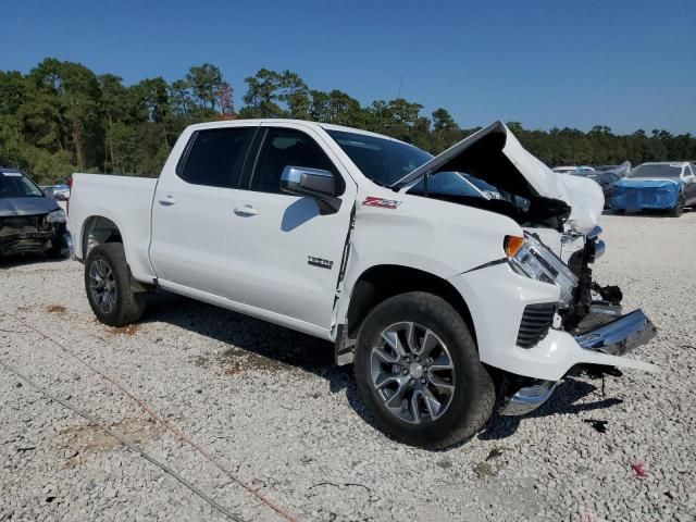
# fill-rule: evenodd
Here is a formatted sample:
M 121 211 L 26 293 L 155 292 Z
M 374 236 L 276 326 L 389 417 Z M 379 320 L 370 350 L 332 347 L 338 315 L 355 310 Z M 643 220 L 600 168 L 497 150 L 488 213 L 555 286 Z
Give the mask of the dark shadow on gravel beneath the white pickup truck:
M 227 371 L 229 375 L 234 375 L 249 370 L 299 370 L 320 376 L 328 382 L 332 394 L 345 390 L 348 403 L 361 420 L 378 430 L 358 396 L 352 366 L 334 364 L 332 343 L 164 290 L 158 290 L 152 296 L 151 306 L 142 322 L 151 321 L 169 323 L 228 346 L 215 356 L 219 370 L 223 374 Z M 244 362 L 237 366 L 235 360 Z M 596 390 L 597 386 L 591 383 L 574 376 L 568 377 L 558 385 L 548 402 L 527 415 L 501 417 L 494 413 L 477 438 L 507 438 L 517 432 L 525 419 L 576 414 L 607 409 L 622 402 L 617 398 L 605 398 L 588 403 L 575 403 Z

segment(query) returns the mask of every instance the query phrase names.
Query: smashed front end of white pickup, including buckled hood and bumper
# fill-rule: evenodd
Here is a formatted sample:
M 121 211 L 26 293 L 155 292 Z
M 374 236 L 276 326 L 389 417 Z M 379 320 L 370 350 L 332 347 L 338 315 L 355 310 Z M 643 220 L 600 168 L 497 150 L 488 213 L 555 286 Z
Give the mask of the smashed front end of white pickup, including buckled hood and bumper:
M 579 365 L 656 370 L 622 357 L 655 336 L 652 323 L 639 310 L 622 315 L 621 290 L 593 282 L 592 265 L 605 251 L 597 226 L 605 198 L 597 183 L 552 172 L 495 122 L 393 188 L 502 214 L 524 231 L 524 238 L 514 236 L 517 254 L 506 245 L 507 266 L 450 279 L 475 301 L 481 361 L 505 375 L 504 414 L 538 408 Z M 502 325 L 495 322 L 500 311 Z M 515 337 L 509 318 L 520 321 Z

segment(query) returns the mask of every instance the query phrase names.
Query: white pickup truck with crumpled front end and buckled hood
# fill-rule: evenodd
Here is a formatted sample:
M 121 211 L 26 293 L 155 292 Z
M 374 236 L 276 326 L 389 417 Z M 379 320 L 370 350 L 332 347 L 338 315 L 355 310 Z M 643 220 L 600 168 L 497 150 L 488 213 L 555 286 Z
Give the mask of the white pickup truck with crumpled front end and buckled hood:
M 161 287 L 335 344 L 381 428 L 437 448 L 542 405 L 655 327 L 592 282 L 604 197 L 496 122 L 431 154 L 288 120 L 191 125 L 158 179 L 75 174 L 69 229 L 97 318 Z

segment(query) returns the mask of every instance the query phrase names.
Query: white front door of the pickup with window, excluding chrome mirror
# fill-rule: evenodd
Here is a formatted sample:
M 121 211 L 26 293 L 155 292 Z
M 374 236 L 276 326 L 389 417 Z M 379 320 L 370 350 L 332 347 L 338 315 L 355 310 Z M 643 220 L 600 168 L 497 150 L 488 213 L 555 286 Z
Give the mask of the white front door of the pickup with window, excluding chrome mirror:
M 229 299 L 328 328 L 357 187 L 323 137 L 294 123 L 264 124 L 235 195 L 227 259 Z M 252 156 L 250 154 L 250 156 Z M 287 165 L 334 173 L 340 208 L 281 191 Z

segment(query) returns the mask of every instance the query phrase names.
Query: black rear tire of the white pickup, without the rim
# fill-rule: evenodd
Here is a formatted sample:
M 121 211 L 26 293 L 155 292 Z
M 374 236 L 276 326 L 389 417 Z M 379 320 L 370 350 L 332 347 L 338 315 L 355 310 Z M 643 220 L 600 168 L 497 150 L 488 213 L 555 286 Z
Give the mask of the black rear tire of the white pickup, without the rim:
M 92 291 L 90 284 L 95 279 L 90 277 L 96 263 L 105 263 L 111 271 L 111 287 L 115 290 L 112 296 L 112 306 L 104 307 L 103 300 L 99 301 L 98 293 Z M 98 266 L 103 266 L 99 264 Z M 95 247 L 87 256 L 85 262 L 85 290 L 87 300 L 99 322 L 109 326 L 123 326 L 136 322 L 142 316 L 146 308 L 145 293 L 134 293 L 130 287 L 130 271 L 126 263 L 125 251 L 120 243 L 107 243 Z

